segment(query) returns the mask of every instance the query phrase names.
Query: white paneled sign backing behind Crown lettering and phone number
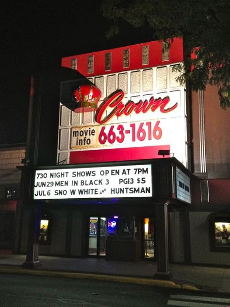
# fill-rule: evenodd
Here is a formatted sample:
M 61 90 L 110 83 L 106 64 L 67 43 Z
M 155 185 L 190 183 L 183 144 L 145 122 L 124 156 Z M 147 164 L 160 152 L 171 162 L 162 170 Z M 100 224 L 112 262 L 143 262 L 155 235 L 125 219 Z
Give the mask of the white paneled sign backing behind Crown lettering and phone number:
M 173 71 L 173 66 L 124 71 L 90 78 L 91 82 L 95 82 L 102 90 L 102 97 L 98 106 L 108 100 L 107 98 L 104 100 L 104 96 L 108 97 L 117 88 L 120 88 L 124 92 L 124 98 L 120 102 L 123 107 L 116 105 L 114 108 L 109 105 L 103 117 L 108 117 L 111 112 L 117 110 L 119 112 L 115 112 L 115 115 L 103 124 L 96 121 L 96 112 L 76 114 L 70 111 L 71 124 L 68 127 L 65 126 L 69 131 L 68 136 L 66 131 L 64 133 L 61 129 L 62 125 L 60 126 L 58 160 L 61 151 L 71 153 L 87 150 L 98 151 L 102 148 L 113 150 L 114 148 L 167 145 L 170 146 L 170 156 L 176 157 L 187 167 L 186 95 L 184 86 L 173 81 L 179 75 L 179 72 Z M 146 102 L 146 106 L 139 112 L 132 110 L 132 107 L 135 104 L 138 105 L 140 101 Z M 132 105 L 124 111 L 125 105 L 130 102 Z M 150 102 L 152 103 L 151 107 L 149 107 Z M 62 108 L 61 104 L 60 110 Z M 65 119 L 65 123 L 67 123 L 67 119 Z M 154 127 L 161 130 L 161 137 L 158 138 L 156 134 L 154 135 Z M 90 141 L 88 140 L 88 143 L 86 143 L 84 137 L 87 136 L 90 129 L 91 131 L 94 129 L 95 134 L 91 135 Z M 151 129 L 152 131 L 150 131 Z M 123 131 L 124 138 L 122 141 L 119 139 L 121 138 L 121 131 Z M 106 134 L 106 142 L 99 141 L 103 133 Z M 145 137 L 142 136 L 143 133 Z M 115 141 L 113 141 L 113 135 Z M 68 137 L 69 143 L 66 141 Z M 80 139 L 82 140 L 79 141 Z

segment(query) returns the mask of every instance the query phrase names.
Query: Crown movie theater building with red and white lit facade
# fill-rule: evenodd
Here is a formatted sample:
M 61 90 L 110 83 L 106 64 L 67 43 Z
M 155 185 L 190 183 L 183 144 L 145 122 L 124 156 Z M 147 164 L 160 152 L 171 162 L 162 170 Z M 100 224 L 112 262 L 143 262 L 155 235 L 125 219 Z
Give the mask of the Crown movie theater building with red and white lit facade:
M 58 112 L 35 84 L 16 234 L 27 265 L 38 254 L 155 260 L 161 276 L 169 262 L 229 265 L 229 110 L 216 88 L 177 82 L 182 62 L 181 38 L 63 58 L 55 160 L 39 122 Z

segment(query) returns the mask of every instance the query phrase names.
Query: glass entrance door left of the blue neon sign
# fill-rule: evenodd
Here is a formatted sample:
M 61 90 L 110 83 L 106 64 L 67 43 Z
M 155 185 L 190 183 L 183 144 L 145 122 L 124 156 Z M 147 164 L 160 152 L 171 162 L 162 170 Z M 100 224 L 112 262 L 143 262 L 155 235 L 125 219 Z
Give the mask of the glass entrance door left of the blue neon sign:
M 89 218 L 89 256 L 105 256 L 106 226 L 107 219 L 105 217 Z

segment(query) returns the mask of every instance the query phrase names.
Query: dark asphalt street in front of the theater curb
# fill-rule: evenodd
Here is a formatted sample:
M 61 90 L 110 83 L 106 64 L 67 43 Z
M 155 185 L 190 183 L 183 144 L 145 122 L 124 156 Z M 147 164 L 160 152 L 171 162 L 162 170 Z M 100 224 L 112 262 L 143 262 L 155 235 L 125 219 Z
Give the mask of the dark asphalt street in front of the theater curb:
M 0 274 L 1 307 L 226 307 L 229 296 L 146 285 Z

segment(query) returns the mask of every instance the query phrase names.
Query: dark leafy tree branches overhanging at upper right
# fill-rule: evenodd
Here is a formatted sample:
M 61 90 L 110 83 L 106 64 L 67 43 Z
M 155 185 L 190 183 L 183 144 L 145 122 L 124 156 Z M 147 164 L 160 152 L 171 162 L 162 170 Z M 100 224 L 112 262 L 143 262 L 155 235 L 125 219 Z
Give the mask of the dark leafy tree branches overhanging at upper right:
M 101 9 L 111 20 L 108 37 L 122 30 L 121 21 L 146 27 L 154 39 L 182 36 L 180 82 L 195 91 L 217 85 L 221 106 L 230 107 L 230 0 L 102 0 Z

